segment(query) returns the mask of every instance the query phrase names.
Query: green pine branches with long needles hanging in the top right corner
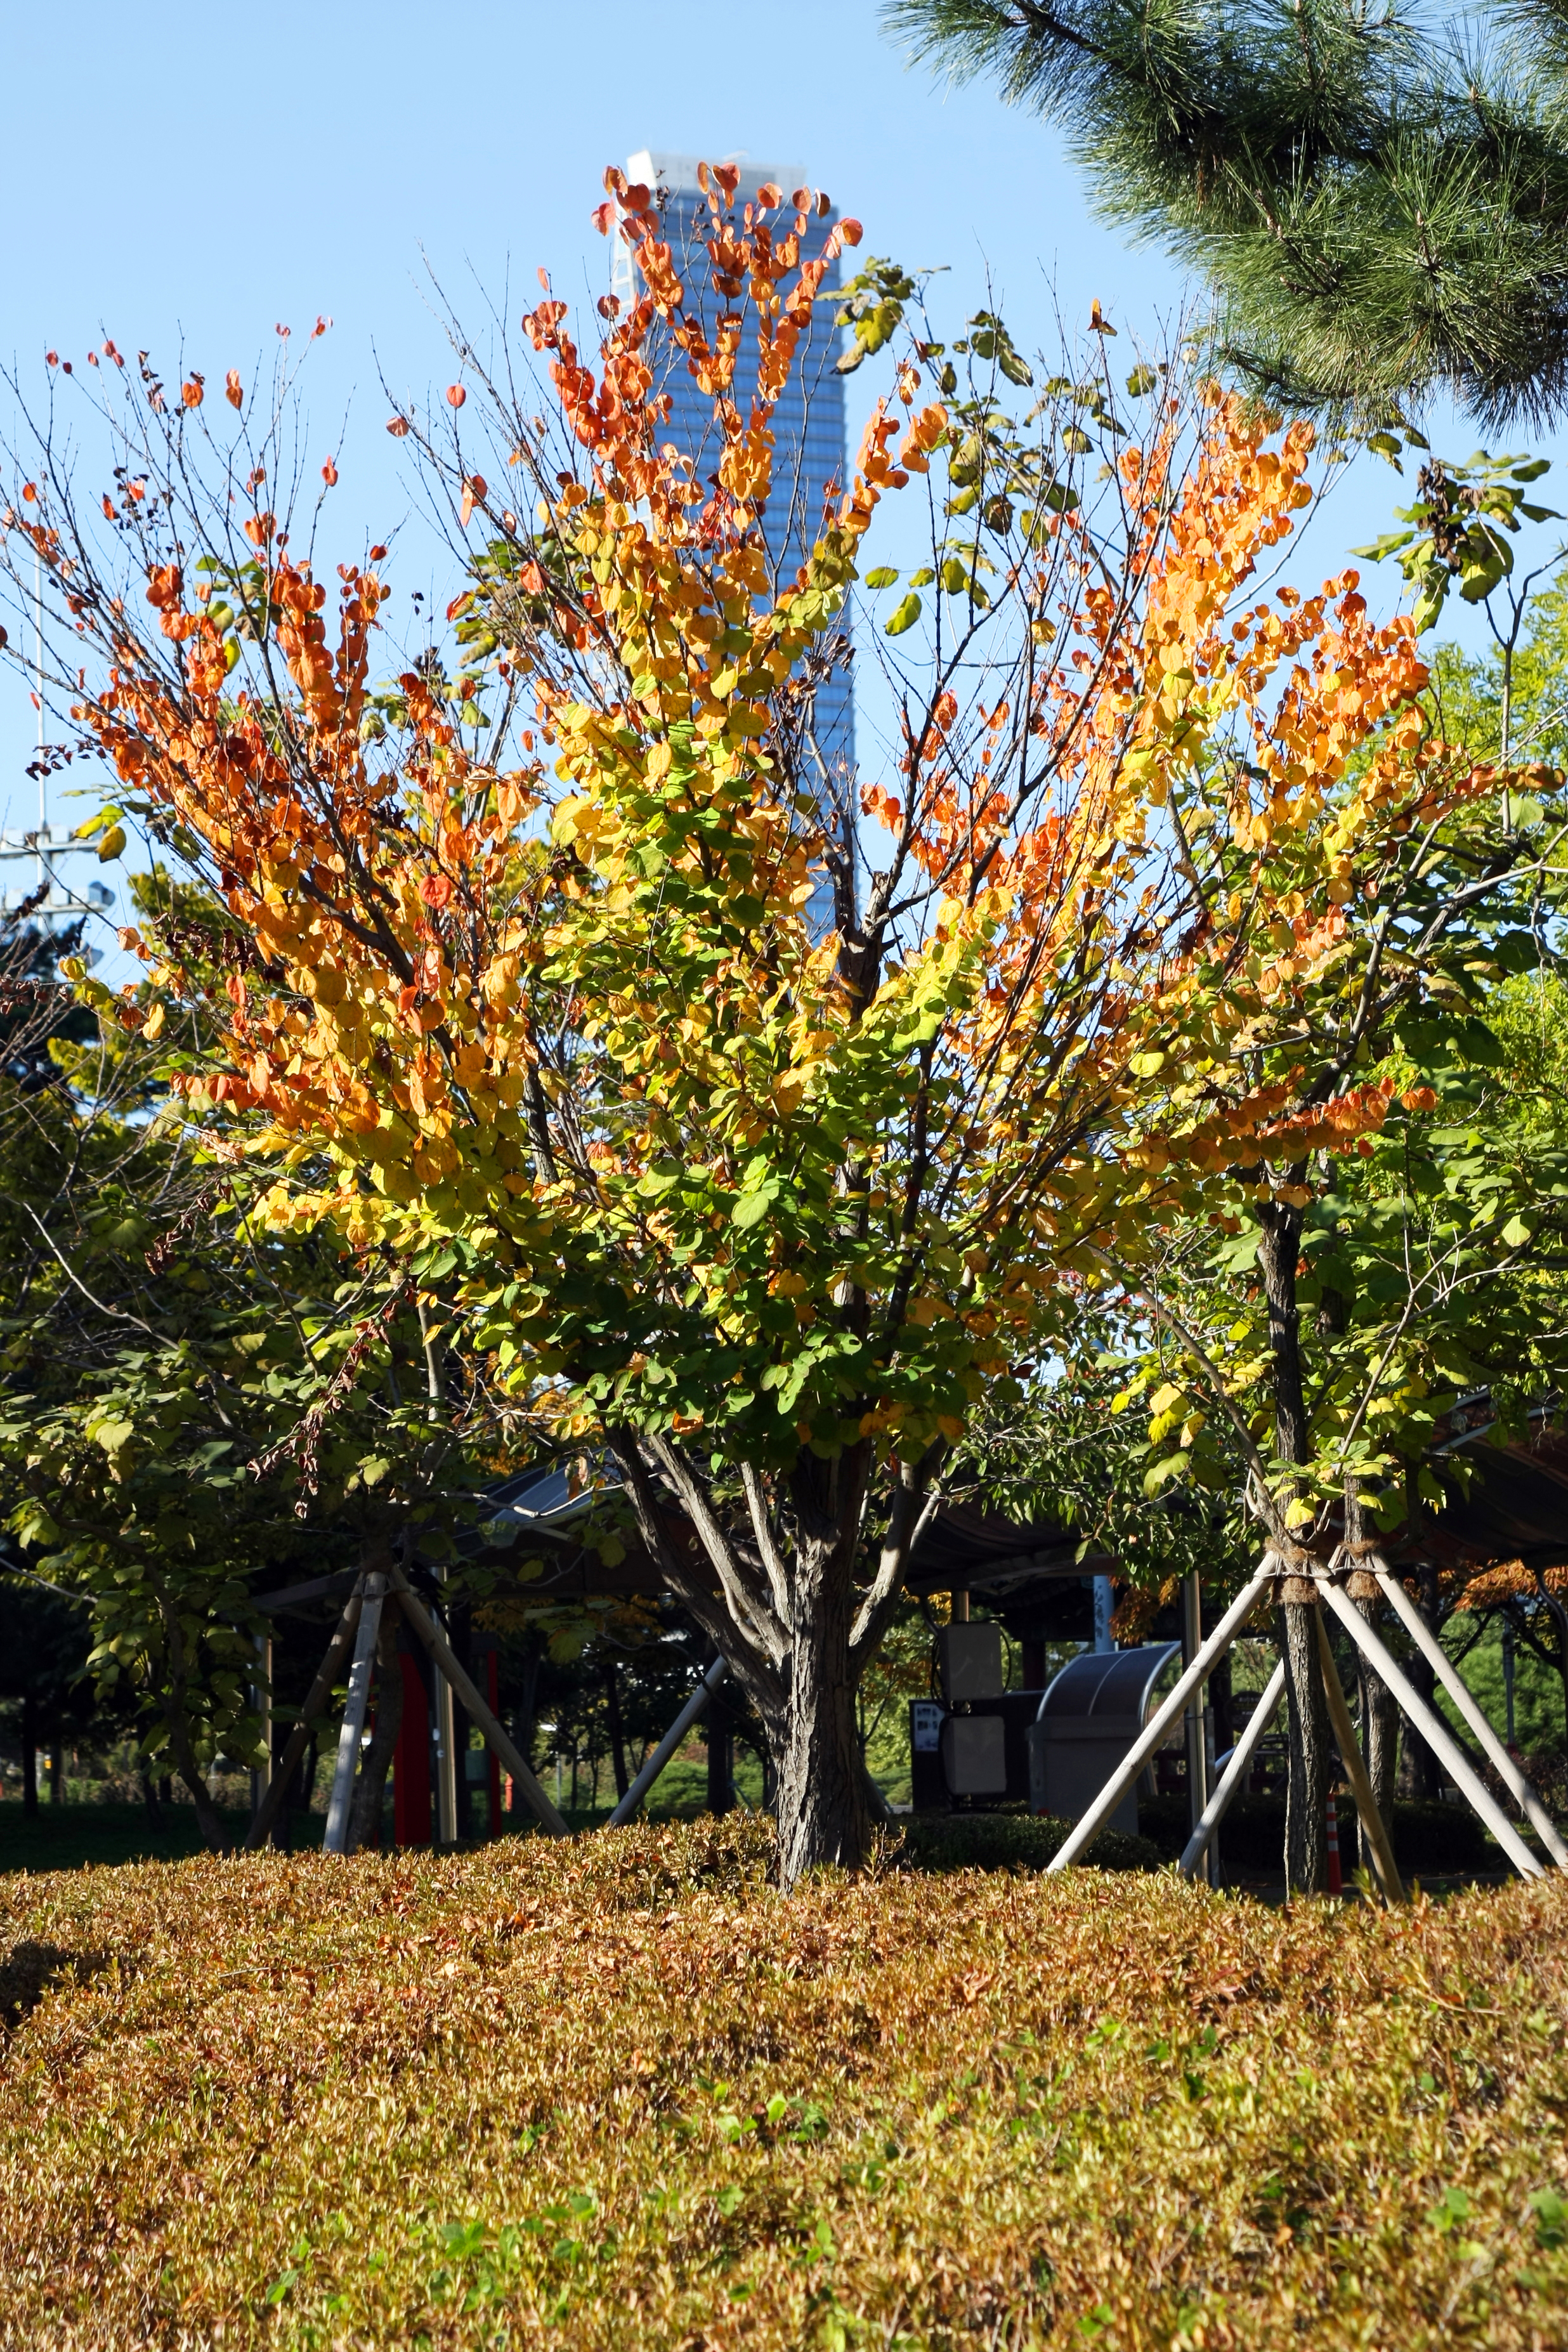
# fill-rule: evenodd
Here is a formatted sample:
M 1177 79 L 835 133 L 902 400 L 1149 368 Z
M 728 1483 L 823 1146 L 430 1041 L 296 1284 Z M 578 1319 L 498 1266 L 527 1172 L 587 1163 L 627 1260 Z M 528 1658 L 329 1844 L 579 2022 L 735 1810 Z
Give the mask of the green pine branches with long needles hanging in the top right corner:
M 1568 12 L 891 0 L 914 59 L 1056 122 L 1103 219 L 1218 296 L 1267 397 L 1375 426 L 1568 395 Z

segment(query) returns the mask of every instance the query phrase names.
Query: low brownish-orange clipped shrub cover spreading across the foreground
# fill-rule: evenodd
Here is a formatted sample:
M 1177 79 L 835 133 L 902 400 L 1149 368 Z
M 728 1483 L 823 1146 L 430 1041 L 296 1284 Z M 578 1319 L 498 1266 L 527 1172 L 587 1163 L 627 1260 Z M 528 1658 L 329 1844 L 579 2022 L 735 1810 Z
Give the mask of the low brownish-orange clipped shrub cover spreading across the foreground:
M 1563 1882 L 766 1870 L 7 1879 L 0 2343 L 1568 2340 Z

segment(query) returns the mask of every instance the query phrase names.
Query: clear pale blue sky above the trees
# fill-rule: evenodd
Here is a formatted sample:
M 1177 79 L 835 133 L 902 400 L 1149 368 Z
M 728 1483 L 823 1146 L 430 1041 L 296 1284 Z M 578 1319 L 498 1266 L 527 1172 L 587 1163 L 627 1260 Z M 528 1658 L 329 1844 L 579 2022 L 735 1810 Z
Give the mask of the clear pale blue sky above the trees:
M 252 381 L 275 322 L 301 336 L 331 315 L 306 393 L 322 454 L 348 414 L 343 553 L 409 513 L 376 372 L 418 395 L 449 374 L 425 256 L 470 318 L 484 289 L 515 325 L 541 261 L 557 292 L 599 294 L 604 245 L 588 214 L 602 167 L 642 146 L 804 165 L 863 219 L 865 249 L 947 263 L 938 301 L 954 310 L 978 306 L 990 270 L 1025 348 L 1048 339 L 1053 303 L 1081 322 L 1098 296 L 1154 339 L 1187 299 L 1157 254 L 1091 219 L 1077 172 L 1030 115 L 987 85 L 947 89 L 907 71 L 875 0 L 275 0 L 263 14 L 56 0 L 16 12 L 7 68 L 0 358 L 38 388 L 45 348 L 80 360 L 108 332 L 165 367 L 183 350 L 209 381 L 226 367 Z M 1439 421 L 1434 440 L 1462 456 L 1476 435 Z M 1547 501 L 1552 489 L 1547 477 Z M 1335 569 L 1345 546 L 1387 524 L 1396 494 L 1394 475 L 1363 461 L 1314 522 L 1302 572 Z M 400 586 L 416 586 L 407 567 Z M 1399 583 L 1385 567 L 1368 586 L 1387 607 Z M 33 731 L 24 687 L 0 677 L 9 826 L 33 821 Z

